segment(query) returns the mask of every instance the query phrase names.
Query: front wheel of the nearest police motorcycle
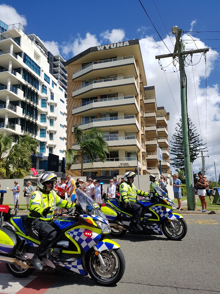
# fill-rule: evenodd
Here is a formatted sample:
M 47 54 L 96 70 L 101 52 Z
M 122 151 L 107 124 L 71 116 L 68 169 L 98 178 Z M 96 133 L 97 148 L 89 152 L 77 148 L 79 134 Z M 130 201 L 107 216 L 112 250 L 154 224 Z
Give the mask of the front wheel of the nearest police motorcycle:
M 104 250 L 101 253 L 105 265 L 101 266 L 99 258 L 92 251 L 87 259 L 90 277 L 102 286 L 110 286 L 121 280 L 125 271 L 125 258 L 120 248 Z

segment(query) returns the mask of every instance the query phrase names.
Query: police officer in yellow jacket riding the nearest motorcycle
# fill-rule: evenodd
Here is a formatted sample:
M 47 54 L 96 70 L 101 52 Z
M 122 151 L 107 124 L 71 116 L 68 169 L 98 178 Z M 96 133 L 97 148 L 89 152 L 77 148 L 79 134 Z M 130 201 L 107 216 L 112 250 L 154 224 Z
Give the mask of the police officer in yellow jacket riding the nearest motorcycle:
M 66 209 L 71 207 L 67 200 L 62 200 L 55 191 L 52 191 L 54 181 L 57 181 L 54 173 L 40 175 L 37 184 L 39 190 L 32 193 L 29 203 L 28 232 L 34 233 L 35 238 L 38 236 L 41 240 L 32 258 L 36 270 L 43 270 L 41 259 L 57 235 L 56 230 L 49 224 L 53 220 L 55 206 Z

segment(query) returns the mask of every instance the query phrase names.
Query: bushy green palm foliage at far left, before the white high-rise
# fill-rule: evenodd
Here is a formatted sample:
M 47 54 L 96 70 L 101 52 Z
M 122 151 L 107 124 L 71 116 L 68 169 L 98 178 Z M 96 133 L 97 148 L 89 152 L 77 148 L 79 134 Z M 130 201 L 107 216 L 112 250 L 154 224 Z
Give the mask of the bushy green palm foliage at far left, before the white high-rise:
M 31 172 L 31 154 L 38 153 L 39 143 L 29 134 L 13 137 L 0 133 L 0 176 L 1 178 L 24 178 Z

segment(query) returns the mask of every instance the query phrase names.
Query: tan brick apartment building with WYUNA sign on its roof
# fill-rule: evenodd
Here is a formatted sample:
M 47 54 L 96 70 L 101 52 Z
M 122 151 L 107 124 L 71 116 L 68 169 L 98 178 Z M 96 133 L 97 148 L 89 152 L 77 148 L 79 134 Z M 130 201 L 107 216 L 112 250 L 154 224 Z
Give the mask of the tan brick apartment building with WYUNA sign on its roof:
M 138 39 L 91 47 L 66 61 L 65 67 L 67 148 L 79 148 L 72 134 L 77 125 L 85 131 L 100 127 L 110 149 L 105 163 L 97 158 L 92 165 L 84 158 L 83 175 L 117 176 L 135 168 L 142 175 L 159 173 L 155 150 L 167 134 L 169 115 L 164 108 L 157 108 L 154 87 L 146 87 Z M 168 151 L 163 154 L 169 156 Z M 70 174 L 80 176 L 80 167 L 75 162 Z

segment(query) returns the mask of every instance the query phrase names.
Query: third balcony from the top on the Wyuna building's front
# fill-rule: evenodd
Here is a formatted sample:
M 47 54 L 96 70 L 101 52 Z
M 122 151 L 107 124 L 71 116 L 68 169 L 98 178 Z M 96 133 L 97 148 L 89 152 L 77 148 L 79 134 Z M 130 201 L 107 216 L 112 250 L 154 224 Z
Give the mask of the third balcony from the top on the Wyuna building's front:
M 83 103 L 72 109 L 72 115 L 79 115 L 79 113 L 83 113 L 84 116 L 96 114 L 97 109 L 99 109 L 99 112 L 102 113 L 106 112 L 106 108 L 111 108 L 112 112 L 118 112 L 119 106 L 126 106 L 126 114 L 138 113 L 138 104 L 136 98 L 134 95 L 130 95 L 93 100 L 87 103 Z

